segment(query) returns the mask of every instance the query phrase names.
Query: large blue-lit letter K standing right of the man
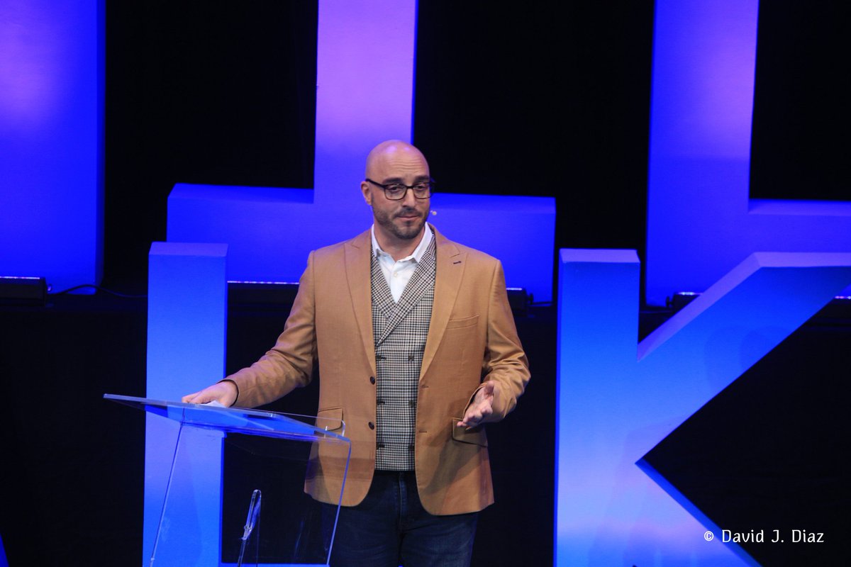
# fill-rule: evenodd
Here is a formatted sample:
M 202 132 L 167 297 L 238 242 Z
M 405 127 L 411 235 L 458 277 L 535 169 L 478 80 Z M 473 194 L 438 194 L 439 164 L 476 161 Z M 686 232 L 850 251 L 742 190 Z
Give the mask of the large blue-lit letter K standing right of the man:
M 560 260 L 556 564 L 754 564 L 637 463 L 848 286 L 851 254 L 751 254 L 638 345 L 635 252 Z

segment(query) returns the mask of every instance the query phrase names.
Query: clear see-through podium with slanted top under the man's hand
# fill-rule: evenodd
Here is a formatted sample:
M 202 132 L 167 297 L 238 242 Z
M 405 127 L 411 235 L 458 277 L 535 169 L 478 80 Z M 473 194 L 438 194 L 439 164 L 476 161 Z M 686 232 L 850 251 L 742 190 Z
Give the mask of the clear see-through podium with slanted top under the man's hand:
M 146 439 L 146 492 L 162 502 L 155 510 L 146 495 L 148 565 L 328 564 L 342 490 L 335 506 L 316 502 L 304 479 L 314 444 L 343 445 L 348 471 L 351 441 L 340 419 L 104 398 L 164 418 L 149 417 Z M 152 443 L 161 466 L 151 462 Z M 219 525 L 205 529 L 211 522 Z

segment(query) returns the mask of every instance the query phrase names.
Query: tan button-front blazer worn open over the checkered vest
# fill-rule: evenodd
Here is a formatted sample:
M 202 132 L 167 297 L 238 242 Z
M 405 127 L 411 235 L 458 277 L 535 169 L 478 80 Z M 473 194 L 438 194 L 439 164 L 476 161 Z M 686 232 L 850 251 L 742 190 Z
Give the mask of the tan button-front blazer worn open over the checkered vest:
M 467 513 L 494 502 L 483 427 L 455 427 L 477 388 L 496 385 L 494 414 L 502 419 L 523 394 L 528 362 L 517 338 L 499 260 L 448 241 L 434 231 L 434 307 L 420 371 L 415 462 L 423 507 L 433 514 Z M 363 500 L 375 468 L 375 352 L 367 230 L 350 241 L 311 252 L 298 295 L 275 346 L 229 378 L 237 405 L 277 400 L 311 380 L 319 363 L 320 417 L 342 420 L 351 439 L 343 505 Z M 314 446 L 306 490 L 337 502 L 346 451 Z

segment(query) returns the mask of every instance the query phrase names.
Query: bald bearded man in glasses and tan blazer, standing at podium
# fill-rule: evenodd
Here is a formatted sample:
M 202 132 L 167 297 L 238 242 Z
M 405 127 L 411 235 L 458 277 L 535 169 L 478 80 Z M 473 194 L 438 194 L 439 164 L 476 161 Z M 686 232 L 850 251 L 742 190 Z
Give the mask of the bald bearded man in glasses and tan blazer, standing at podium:
M 413 145 L 376 146 L 361 183 L 373 228 L 311 252 L 275 346 L 183 399 L 266 404 L 318 359 L 318 415 L 345 422 L 352 444 L 334 565 L 468 565 L 494 502 L 481 426 L 528 382 L 500 262 L 426 224 L 431 184 Z M 306 490 L 336 504 L 345 460 L 314 448 Z

